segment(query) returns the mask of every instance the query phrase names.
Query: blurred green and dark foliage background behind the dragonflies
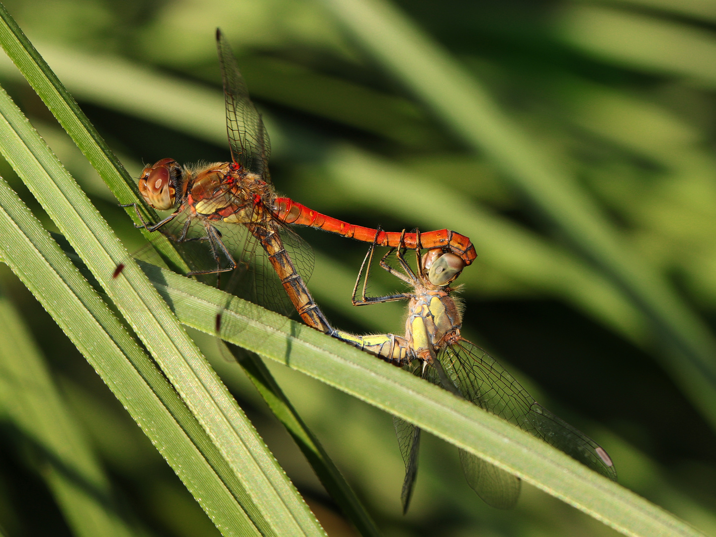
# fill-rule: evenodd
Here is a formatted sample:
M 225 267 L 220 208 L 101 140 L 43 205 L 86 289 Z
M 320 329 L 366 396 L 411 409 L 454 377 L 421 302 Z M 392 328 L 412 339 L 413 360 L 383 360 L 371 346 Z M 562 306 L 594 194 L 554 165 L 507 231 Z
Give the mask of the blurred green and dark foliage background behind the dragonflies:
M 546 218 L 379 64 L 332 14 L 296 0 L 10 0 L 29 39 L 137 177 L 142 163 L 227 160 L 214 30 L 231 41 L 274 146 L 280 193 L 391 231 L 470 236 L 463 334 L 556 414 L 594 437 L 619 482 L 716 535 L 716 435 L 693 392 L 664 367 L 659 329 L 629 289 Z M 619 241 L 716 322 L 716 1 L 443 1 L 397 6 L 478 79 L 505 115 L 574 176 Z M 9 61 L 0 82 L 127 241 L 141 236 Z M 430 84 L 439 87 L 440 79 Z M 54 229 L 9 167 L 11 181 Z M 402 333 L 402 304 L 350 306 L 366 247 L 301 231 L 309 288 L 334 324 Z M 598 260 L 597 260 L 598 261 Z M 375 274 L 374 291 L 399 289 Z M 6 298 L 29 327 L 49 383 L 95 451 L 137 534 L 214 536 L 160 455 L 54 321 L 12 274 Z M 349 536 L 290 437 L 238 366 L 196 334 L 226 384 L 331 536 Z M 5 349 L 4 352 L 11 352 Z M 271 366 L 388 536 L 607 536 L 606 526 L 528 485 L 515 511 L 474 495 L 457 450 L 425 435 L 415 497 L 400 510 L 402 460 L 389 415 Z M 5 390 L 5 391 L 3 391 Z M 0 396 L 9 393 L 0 387 Z M 70 535 L 51 461 L 0 397 L 0 526 L 8 536 Z

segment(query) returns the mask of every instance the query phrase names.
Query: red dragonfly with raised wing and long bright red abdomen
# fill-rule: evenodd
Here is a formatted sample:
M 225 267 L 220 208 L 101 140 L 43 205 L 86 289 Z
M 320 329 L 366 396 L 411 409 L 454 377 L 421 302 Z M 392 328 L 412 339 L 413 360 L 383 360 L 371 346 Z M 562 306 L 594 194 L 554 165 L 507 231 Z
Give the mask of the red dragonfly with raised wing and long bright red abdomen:
M 160 230 L 184 243 L 191 257 L 189 274 L 218 274 L 235 271 L 239 289 L 258 304 L 282 313 L 293 306 L 306 324 L 321 332 L 333 329 L 311 297 L 303 276 L 313 269 L 311 248 L 286 223 L 313 226 L 359 241 L 396 246 L 401 233 L 385 233 L 352 226 L 311 211 L 289 198 L 276 197 L 269 175 L 271 144 L 261 114 L 251 102 L 236 60 L 221 31 L 216 31 L 223 89 L 226 97 L 226 130 L 231 149 L 230 163 L 196 167 L 181 166 L 164 158 L 147 166 L 139 180 L 143 198 L 160 211 L 173 210 L 157 223 L 145 222 L 148 231 Z M 414 248 L 442 248 L 470 264 L 475 248 L 470 240 L 442 230 L 402 236 Z M 258 248 L 261 246 L 261 248 Z M 194 253 L 188 253 L 194 250 Z M 278 276 L 278 282 L 276 281 Z M 291 304 L 284 304 L 286 291 Z

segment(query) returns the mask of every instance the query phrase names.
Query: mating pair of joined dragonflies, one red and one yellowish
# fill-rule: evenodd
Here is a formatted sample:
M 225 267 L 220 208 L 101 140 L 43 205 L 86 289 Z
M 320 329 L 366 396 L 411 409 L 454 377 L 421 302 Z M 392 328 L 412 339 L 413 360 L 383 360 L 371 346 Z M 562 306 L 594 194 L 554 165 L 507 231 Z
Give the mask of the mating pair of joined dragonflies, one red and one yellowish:
M 389 233 L 353 226 L 276 195 L 269 176 L 269 134 L 248 96 L 231 48 L 217 30 L 226 127 L 231 163 L 183 167 L 171 158 L 147 166 L 139 180 L 143 198 L 160 211 L 173 210 L 157 223 L 180 243 L 193 270 L 188 274 L 233 274 L 233 292 L 282 313 L 295 309 L 306 324 L 408 369 L 568 453 L 590 468 L 616 479 L 614 466 L 596 442 L 545 410 L 483 350 L 460 336 L 461 312 L 450 284 L 475 259 L 470 240 L 453 231 Z M 126 205 L 126 206 L 130 206 Z M 354 305 L 409 301 L 405 336 L 354 336 L 335 329 L 306 287 L 313 268 L 311 249 L 287 224 L 311 226 L 370 243 L 353 293 Z M 411 291 L 369 297 L 365 282 L 377 246 L 390 249 L 380 266 L 402 279 Z M 405 258 L 414 251 L 415 270 Z M 424 255 L 420 255 L 427 250 Z M 395 256 L 399 269 L 388 261 Z M 359 281 L 364 279 L 360 298 Z M 238 287 L 234 287 L 234 284 Z M 281 287 L 283 289 L 281 289 Z M 218 317 L 219 322 L 221 317 Z M 417 474 L 420 429 L 396 418 L 405 460 L 402 503 L 407 511 Z M 520 480 L 480 458 L 460 451 L 468 483 L 490 505 L 509 508 Z

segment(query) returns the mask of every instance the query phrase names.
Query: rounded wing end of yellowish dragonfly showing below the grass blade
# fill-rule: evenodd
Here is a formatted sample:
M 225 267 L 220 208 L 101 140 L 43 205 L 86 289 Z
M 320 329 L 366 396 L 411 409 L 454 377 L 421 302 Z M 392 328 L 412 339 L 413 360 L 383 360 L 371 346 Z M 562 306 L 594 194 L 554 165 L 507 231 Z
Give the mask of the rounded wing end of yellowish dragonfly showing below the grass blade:
M 516 505 L 522 484 L 520 478 L 465 450 L 460 450 L 460 463 L 468 485 L 485 503 L 498 509 L 511 509 Z

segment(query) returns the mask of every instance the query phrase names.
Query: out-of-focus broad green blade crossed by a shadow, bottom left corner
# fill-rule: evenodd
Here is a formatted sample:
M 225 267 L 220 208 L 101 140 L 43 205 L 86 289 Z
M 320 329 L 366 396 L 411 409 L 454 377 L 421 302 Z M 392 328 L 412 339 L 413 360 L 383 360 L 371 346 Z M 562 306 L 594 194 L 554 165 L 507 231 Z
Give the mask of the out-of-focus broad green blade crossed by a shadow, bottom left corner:
M 122 520 L 110 480 L 62 400 L 19 311 L 3 295 L 0 324 L 0 406 L 22 437 L 37 448 L 42 476 L 74 534 L 135 535 L 137 528 Z

